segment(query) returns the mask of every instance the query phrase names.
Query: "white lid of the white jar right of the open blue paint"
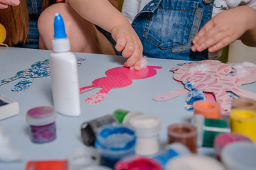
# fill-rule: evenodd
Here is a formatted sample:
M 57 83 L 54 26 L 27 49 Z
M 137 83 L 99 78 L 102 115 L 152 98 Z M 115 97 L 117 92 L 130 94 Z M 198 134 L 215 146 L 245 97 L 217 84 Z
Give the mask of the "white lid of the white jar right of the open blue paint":
M 129 121 L 138 137 L 159 135 L 161 121 L 154 115 L 137 115 Z

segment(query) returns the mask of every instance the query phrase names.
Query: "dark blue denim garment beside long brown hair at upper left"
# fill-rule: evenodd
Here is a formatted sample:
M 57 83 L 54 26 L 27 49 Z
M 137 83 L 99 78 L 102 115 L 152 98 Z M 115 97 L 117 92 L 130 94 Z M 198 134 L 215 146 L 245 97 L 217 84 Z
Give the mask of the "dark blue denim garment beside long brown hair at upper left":
M 26 0 L 28 8 L 28 42 L 26 44 L 18 43 L 16 47 L 38 48 L 39 32 L 38 18 L 42 12 L 43 0 Z M 49 2 L 51 4 L 51 1 Z

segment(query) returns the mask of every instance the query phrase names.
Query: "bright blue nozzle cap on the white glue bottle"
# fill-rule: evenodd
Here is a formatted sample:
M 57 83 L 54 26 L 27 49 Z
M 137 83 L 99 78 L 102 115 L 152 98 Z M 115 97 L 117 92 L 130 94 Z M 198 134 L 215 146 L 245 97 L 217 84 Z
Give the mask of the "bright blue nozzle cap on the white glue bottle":
M 65 33 L 64 21 L 63 18 L 60 16 L 60 13 L 55 13 L 54 38 L 67 38 L 67 35 Z

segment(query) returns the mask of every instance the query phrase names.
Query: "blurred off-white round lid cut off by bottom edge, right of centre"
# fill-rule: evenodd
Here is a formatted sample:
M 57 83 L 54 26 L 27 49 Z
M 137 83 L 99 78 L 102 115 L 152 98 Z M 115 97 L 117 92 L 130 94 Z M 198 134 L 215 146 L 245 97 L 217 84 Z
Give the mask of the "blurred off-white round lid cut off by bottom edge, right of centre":
M 220 164 L 213 157 L 207 157 L 198 154 L 183 155 L 171 159 L 166 166 L 166 170 L 225 170 L 223 164 Z M 244 169 L 240 169 L 244 170 Z

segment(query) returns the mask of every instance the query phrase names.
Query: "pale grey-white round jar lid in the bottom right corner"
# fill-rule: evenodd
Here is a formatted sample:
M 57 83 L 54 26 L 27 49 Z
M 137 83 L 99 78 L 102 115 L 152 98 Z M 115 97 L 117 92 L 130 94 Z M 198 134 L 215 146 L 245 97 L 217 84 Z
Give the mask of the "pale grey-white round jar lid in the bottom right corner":
M 256 145 L 251 142 L 234 142 L 223 148 L 221 161 L 227 170 L 255 170 Z

